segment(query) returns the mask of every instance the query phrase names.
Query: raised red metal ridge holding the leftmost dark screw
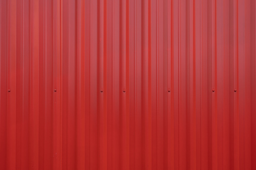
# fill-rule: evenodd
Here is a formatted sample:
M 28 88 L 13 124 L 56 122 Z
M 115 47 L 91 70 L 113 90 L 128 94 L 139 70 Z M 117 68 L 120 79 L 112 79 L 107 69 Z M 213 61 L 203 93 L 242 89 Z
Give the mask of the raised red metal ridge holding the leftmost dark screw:
M 16 168 L 16 42 L 17 42 L 17 2 L 7 2 L 7 118 L 6 118 L 6 168 Z

